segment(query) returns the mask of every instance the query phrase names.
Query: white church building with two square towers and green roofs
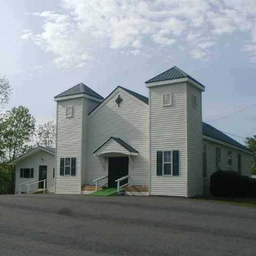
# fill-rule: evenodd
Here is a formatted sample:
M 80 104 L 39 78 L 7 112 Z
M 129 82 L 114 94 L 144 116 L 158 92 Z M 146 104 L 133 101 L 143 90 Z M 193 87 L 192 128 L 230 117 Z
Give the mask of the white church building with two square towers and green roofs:
M 209 194 L 217 170 L 250 176 L 252 153 L 202 122 L 203 84 L 173 67 L 145 85 L 148 98 L 118 86 L 104 99 L 83 83 L 55 96 L 56 149 L 11 163 L 16 193 L 44 179 L 56 194 L 89 194 L 97 183 L 124 185 L 127 195 L 192 197 Z

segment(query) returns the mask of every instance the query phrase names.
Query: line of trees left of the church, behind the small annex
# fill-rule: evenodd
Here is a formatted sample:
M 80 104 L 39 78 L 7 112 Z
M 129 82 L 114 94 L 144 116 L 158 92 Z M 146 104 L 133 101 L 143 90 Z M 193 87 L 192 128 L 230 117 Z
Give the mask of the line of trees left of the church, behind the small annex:
M 54 121 L 36 126 L 36 119 L 24 106 L 4 111 L 11 94 L 10 81 L 0 77 L 0 194 L 14 192 L 15 169 L 9 162 L 37 146 L 55 146 Z

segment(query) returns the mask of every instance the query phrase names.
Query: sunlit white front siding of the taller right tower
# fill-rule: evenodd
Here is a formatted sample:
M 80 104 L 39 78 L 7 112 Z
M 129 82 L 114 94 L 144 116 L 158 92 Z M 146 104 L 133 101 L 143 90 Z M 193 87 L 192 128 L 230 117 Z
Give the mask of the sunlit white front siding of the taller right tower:
M 163 107 L 164 93 L 172 92 L 172 106 Z M 186 196 L 186 84 L 149 88 L 150 93 L 150 195 Z M 179 150 L 179 176 L 156 176 L 156 152 Z

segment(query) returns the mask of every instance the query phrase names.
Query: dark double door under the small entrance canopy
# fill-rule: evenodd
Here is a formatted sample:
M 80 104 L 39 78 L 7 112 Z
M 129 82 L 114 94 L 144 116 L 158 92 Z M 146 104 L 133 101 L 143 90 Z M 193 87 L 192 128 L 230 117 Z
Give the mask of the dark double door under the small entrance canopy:
M 117 187 L 117 179 L 128 175 L 128 157 L 109 157 L 108 158 L 108 188 Z M 127 183 L 128 179 L 122 180 L 120 186 Z

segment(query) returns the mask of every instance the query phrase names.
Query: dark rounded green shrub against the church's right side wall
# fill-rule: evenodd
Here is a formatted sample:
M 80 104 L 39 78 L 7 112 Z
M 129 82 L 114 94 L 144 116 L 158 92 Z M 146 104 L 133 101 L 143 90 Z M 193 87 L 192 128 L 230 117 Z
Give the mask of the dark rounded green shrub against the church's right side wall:
M 213 196 L 256 196 L 256 179 L 233 171 L 218 171 L 211 176 Z

